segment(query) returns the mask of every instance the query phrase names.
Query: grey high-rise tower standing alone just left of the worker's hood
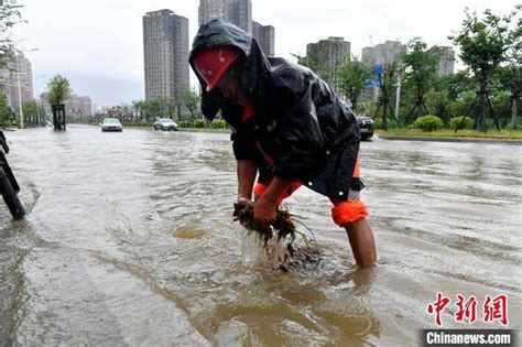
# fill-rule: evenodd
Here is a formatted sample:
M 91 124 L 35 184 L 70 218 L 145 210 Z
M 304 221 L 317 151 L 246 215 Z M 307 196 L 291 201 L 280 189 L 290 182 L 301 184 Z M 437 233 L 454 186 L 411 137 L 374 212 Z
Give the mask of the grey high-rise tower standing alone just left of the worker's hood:
M 143 17 L 145 99 L 166 97 L 189 89 L 188 19 L 171 10 L 148 12 Z

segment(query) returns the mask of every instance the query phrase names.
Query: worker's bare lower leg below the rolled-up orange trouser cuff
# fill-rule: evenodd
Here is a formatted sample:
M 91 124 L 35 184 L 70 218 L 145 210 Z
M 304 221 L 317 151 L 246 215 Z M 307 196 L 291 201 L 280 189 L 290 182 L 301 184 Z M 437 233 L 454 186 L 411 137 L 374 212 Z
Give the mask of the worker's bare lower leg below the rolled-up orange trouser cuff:
M 377 261 L 376 240 L 368 220 L 362 218 L 346 224 L 345 229 L 357 264 L 362 269 L 374 267 Z

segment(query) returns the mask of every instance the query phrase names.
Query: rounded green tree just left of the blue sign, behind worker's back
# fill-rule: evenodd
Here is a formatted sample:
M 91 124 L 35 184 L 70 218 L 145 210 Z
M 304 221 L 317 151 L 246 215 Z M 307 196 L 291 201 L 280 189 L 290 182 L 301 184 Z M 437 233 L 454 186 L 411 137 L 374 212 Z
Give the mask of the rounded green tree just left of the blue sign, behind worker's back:
M 352 55 L 350 59 L 346 59 L 339 68 L 338 85 L 344 96 L 350 99 L 354 109 L 357 109 L 359 96 L 366 89 L 368 79 L 371 79 L 373 73 L 371 67 Z

